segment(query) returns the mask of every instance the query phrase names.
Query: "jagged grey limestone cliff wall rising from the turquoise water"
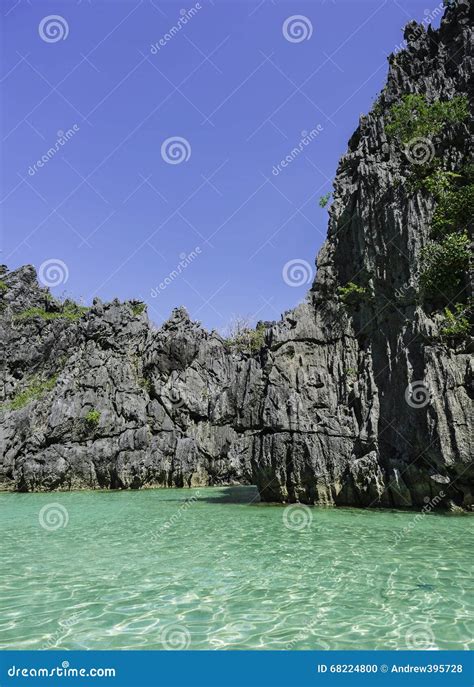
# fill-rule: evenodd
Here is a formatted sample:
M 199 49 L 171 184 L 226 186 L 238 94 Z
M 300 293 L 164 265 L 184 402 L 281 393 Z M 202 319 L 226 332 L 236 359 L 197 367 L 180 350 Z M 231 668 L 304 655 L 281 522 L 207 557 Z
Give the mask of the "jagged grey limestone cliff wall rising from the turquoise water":
M 3 269 L 1 488 L 253 483 L 268 501 L 472 507 L 469 344 L 440 336 L 419 298 L 435 202 L 386 132 L 408 93 L 468 93 L 469 11 L 459 0 L 439 31 L 407 27 L 340 161 L 307 300 L 259 350 L 184 309 L 155 330 L 137 302 L 58 304 L 32 267 Z M 472 160 L 466 121 L 429 143 L 448 170 Z M 351 282 L 363 297 L 343 297 Z

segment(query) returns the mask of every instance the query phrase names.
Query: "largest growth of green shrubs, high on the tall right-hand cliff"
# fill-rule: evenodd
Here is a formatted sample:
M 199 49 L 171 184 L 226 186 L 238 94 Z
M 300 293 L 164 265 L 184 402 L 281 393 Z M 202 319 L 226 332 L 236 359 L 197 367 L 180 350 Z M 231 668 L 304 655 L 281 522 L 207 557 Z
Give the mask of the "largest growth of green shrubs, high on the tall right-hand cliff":
M 468 117 L 469 102 L 464 95 L 428 103 L 424 95 L 409 94 L 391 106 L 386 131 L 409 147 L 414 139 L 437 135 L 446 125 L 466 121 Z M 408 187 L 415 192 L 424 189 L 436 201 L 430 241 L 421 253 L 420 286 L 423 300 L 449 305 L 453 299 L 465 301 L 467 296 L 466 275 L 472 256 L 468 233 L 474 216 L 474 168 L 470 164 L 456 171 L 445 169 L 443 158 L 435 156 L 432 143 L 427 141 L 427 145 L 426 160 L 416 160 L 416 156 L 407 154 L 412 165 Z M 454 318 L 455 313 L 447 309 L 445 318 Z M 445 329 L 457 327 L 459 335 L 467 332 L 467 319 L 465 315 L 462 317 L 462 322 L 457 323 L 451 319 Z

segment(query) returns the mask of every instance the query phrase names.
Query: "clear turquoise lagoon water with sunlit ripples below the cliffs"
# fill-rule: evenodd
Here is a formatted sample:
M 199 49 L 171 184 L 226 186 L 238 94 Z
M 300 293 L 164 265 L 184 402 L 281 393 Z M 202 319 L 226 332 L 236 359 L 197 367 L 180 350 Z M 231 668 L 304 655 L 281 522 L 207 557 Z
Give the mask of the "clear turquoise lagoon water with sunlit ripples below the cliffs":
M 471 516 L 255 498 L 0 494 L 0 648 L 469 648 Z

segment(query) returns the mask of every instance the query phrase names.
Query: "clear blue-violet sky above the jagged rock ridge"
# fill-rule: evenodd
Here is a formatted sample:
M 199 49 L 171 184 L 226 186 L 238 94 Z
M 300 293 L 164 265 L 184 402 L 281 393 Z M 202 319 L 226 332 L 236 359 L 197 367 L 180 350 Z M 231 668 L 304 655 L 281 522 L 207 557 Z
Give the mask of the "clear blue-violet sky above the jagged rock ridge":
M 442 2 L 0 6 L 0 261 L 58 297 L 137 298 L 157 324 L 184 305 L 224 332 L 304 299 L 319 198 L 403 26 L 437 26 Z

